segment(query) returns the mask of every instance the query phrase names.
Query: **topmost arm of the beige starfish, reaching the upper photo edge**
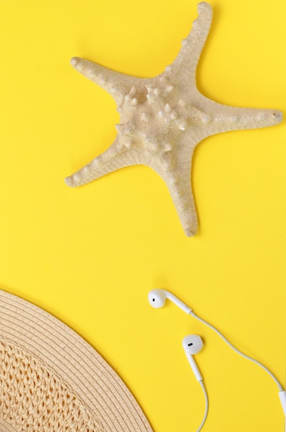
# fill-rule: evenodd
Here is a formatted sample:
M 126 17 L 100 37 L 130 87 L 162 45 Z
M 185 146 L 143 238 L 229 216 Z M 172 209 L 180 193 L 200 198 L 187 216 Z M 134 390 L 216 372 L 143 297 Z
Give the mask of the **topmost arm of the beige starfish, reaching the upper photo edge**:
M 196 67 L 212 24 L 212 6 L 205 1 L 198 3 L 198 18 L 192 30 L 182 41 L 182 48 L 166 72 L 185 83 L 186 88 L 196 86 Z M 182 84 L 182 83 L 181 83 Z

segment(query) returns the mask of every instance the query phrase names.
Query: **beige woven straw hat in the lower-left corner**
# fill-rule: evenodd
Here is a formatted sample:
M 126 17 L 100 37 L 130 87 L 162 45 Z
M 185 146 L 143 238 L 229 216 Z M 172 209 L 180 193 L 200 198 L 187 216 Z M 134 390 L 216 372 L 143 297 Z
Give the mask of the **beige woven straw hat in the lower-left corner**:
M 68 326 L 0 291 L 0 432 L 152 432 L 139 404 Z

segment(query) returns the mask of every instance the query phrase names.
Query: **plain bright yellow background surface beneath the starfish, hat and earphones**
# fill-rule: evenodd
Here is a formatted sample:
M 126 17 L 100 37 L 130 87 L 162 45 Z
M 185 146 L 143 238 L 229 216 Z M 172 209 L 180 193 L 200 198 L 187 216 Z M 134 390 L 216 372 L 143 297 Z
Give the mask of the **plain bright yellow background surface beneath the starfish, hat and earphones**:
M 275 6 L 274 6 L 275 3 Z M 284 0 L 213 0 L 198 87 L 234 106 L 286 113 Z M 283 431 L 277 387 L 178 308 L 167 288 L 285 384 L 285 121 L 205 139 L 193 159 L 199 230 L 185 237 L 150 168 L 125 168 L 79 189 L 63 181 L 108 148 L 119 115 L 72 56 L 141 77 L 170 64 L 196 1 L 0 1 L 0 286 L 88 340 L 134 393 L 155 432 Z

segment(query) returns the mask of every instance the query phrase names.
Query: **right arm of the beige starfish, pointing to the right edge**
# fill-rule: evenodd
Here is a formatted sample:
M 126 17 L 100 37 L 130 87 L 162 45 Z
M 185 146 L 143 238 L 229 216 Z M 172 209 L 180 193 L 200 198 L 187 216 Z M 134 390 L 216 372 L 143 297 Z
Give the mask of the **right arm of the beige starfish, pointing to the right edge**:
M 237 108 L 218 104 L 198 93 L 196 106 L 207 113 L 205 117 L 205 136 L 214 135 L 228 130 L 244 130 L 274 126 L 282 121 L 283 114 L 279 110 L 258 108 Z

